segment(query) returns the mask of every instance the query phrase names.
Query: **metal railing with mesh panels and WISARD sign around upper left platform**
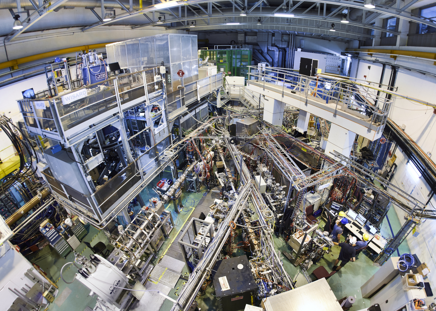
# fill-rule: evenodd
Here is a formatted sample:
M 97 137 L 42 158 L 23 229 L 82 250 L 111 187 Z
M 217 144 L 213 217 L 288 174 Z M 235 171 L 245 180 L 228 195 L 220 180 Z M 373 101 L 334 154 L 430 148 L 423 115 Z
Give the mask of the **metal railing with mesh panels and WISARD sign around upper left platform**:
M 78 88 L 54 98 L 18 100 L 27 130 L 59 142 L 118 112 L 148 103 L 155 94 L 156 68 L 148 68 Z M 44 92 L 41 94 L 45 94 Z

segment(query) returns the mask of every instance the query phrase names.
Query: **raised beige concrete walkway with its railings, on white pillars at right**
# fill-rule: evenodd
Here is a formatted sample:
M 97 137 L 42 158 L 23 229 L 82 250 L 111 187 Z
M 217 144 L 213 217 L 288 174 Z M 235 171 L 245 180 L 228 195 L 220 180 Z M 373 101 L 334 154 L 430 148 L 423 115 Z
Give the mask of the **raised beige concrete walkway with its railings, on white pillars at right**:
M 249 73 L 249 91 L 317 115 L 371 141 L 381 137 L 393 103 L 386 90 L 346 77 L 308 77 L 281 68 L 250 69 L 255 72 Z

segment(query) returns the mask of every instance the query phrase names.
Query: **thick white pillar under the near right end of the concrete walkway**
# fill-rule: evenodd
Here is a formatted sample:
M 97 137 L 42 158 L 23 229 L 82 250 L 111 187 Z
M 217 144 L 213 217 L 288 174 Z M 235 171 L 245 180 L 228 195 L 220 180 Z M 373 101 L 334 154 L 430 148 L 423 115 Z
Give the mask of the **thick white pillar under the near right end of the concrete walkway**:
M 332 123 L 330 126 L 330 133 L 328 135 L 328 142 L 324 153 L 330 158 L 334 158 L 334 156 L 330 154 L 330 151 L 336 151 L 349 158 L 350 152 L 353 149 L 353 143 L 355 138 L 356 133 Z

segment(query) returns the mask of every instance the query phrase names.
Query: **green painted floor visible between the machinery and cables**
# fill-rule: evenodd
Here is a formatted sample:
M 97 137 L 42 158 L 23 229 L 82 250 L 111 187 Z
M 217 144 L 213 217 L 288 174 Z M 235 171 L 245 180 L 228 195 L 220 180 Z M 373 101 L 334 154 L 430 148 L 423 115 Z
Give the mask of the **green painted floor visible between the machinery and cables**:
M 152 187 L 156 185 L 156 183 L 162 177 L 171 178 L 171 173 L 169 168 L 166 171 L 162 172 L 159 176 L 156 176 L 156 178 L 153 179 L 152 183 L 150 183 L 150 185 L 147 186 L 146 189 L 144 189 L 143 192 L 141 193 L 141 196 L 143 197 L 146 203 L 148 202 L 149 198 L 153 196 L 157 196 L 157 194 L 152 190 Z M 157 258 L 152 260 L 153 264 L 156 264 L 160 260 L 160 258 L 164 256 L 167 249 L 170 247 L 171 243 L 177 243 L 177 241 L 174 241 L 175 237 L 177 237 L 177 234 L 180 232 L 184 223 L 187 221 L 188 217 L 194 210 L 195 206 L 197 206 L 198 202 L 203 197 L 203 194 L 206 193 L 206 191 L 207 188 L 205 186 L 201 186 L 199 188 L 198 193 L 183 191 L 181 199 L 184 208 L 181 211 L 181 213 L 174 212 L 174 206 L 172 203 L 169 203 L 165 206 L 166 210 L 170 210 L 172 213 L 175 228 L 170 233 L 170 238 L 167 238 L 164 244 L 162 245 L 162 247 L 160 248 Z M 135 212 L 137 212 L 140 209 L 140 206 L 136 206 L 134 209 Z M 90 225 L 87 225 L 85 227 L 86 230 L 88 231 L 88 234 L 85 236 L 83 241 L 91 243 L 92 246 L 99 241 L 102 241 L 106 245 L 108 244 L 108 240 L 106 239 L 106 236 L 103 233 L 100 233 L 99 230 L 95 229 L 93 226 Z M 322 221 L 320 227 L 324 227 L 324 223 Z M 396 234 L 400 229 L 400 227 L 401 225 L 400 225 L 399 218 L 395 213 L 395 210 L 391 208 L 388 211 L 388 217 L 385 218 L 385 220 L 382 223 L 381 234 L 385 237 L 391 237 L 392 236 L 391 228 L 393 233 Z M 290 249 L 287 246 L 286 242 L 283 239 L 281 238 L 279 239 L 275 236 L 273 240 L 275 244 L 275 249 L 282 258 L 283 266 L 285 270 L 288 272 L 288 274 L 293 280 L 296 279 L 297 281 L 296 286 L 300 287 L 307 284 L 307 280 L 305 279 L 303 274 L 299 273 L 301 270 L 300 267 L 294 267 L 293 264 L 291 264 L 290 261 L 281 254 L 282 250 L 286 250 L 287 252 L 290 252 Z M 342 237 L 342 240 L 344 240 L 344 237 Z M 86 257 L 88 257 L 89 254 L 92 254 L 92 251 L 88 247 L 86 247 L 84 243 L 81 243 L 81 245 L 78 247 L 76 251 L 82 255 L 85 255 Z M 313 270 L 319 267 L 319 265 L 324 266 L 327 269 L 327 271 L 330 272 L 331 267 L 333 266 L 334 261 L 336 260 L 339 254 L 339 251 L 340 251 L 340 247 L 334 246 L 332 248 L 331 253 L 325 254 L 324 258 L 320 260 L 318 265 L 312 265 L 312 267 L 309 268 L 308 273 L 311 274 Z M 400 245 L 399 247 L 399 253 L 403 254 L 403 253 L 408 253 L 409 251 L 410 250 L 409 250 L 409 246 L 407 245 L 407 242 L 403 242 L 402 245 Z M 237 255 L 243 255 L 243 254 L 244 254 L 243 251 L 238 250 Z M 46 246 L 39 252 L 34 253 L 31 256 L 28 256 L 27 258 L 32 263 L 39 265 L 41 269 L 43 269 L 47 273 L 48 277 L 52 281 L 56 282 L 56 284 L 59 287 L 58 297 L 55 299 L 54 303 L 49 306 L 48 308 L 49 311 L 61 311 L 61 310 L 83 311 L 86 308 L 86 306 L 89 306 L 90 308 L 93 308 L 95 306 L 96 303 L 95 297 L 90 297 L 89 289 L 86 288 L 84 285 L 82 285 L 79 281 L 75 280 L 72 284 L 66 284 L 64 281 L 60 279 L 61 267 L 64 264 L 74 260 L 73 252 L 68 254 L 67 258 L 64 259 L 60 257 L 56 253 L 56 251 L 53 250 L 50 246 Z M 369 307 L 370 305 L 369 299 L 362 298 L 360 293 L 360 287 L 377 270 L 378 268 L 373 266 L 371 254 L 363 251 L 361 252 L 361 254 L 358 255 L 357 260 L 355 262 L 348 263 L 344 268 L 342 268 L 340 271 L 338 271 L 336 274 L 330 277 L 327 281 L 330 284 L 330 287 L 333 289 L 338 300 L 343 297 L 354 296 L 356 298 L 356 302 L 353 304 L 350 310 L 351 311 L 360 310 L 362 308 Z M 71 281 L 76 272 L 77 269 L 74 266 L 72 266 L 72 264 L 65 267 L 64 274 L 63 274 L 65 280 Z M 186 276 L 186 277 L 188 276 L 186 267 L 184 267 L 182 276 Z M 313 276 L 312 279 L 314 280 Z M 174 299 L 177 299 L 177 295 L 180 294 L 184 282 L 185 281 L 183 279 L 179 279 L 176 286 L 173 289 L 171 289 L 168 295 L 170 297 L 173 297 Z M 214 295 L 215 295 L 215 289 L 213 288 L 213 284 L 211 283 L 206 288 L 204 295 L 196 298 L 196 300 L 199 301 L 200 308 L 203 311 L 218 310 L 217 300 Z M 160 311 L 170 310 L 170 308 L 172 308 L 172 305 L 173 303 L 167 299 L 164 301 L 164 304 L 160 308 Z

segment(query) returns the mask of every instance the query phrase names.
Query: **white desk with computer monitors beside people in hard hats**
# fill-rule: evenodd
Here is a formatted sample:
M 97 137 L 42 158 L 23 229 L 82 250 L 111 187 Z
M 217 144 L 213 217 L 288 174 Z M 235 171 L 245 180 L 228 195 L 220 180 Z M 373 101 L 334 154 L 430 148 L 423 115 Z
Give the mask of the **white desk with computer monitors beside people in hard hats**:
M 368 233 L 370 240 L 368 247 L 377 254 L 380 254 L 381 250 L 385 247 L 386 240 L 377 233 L 377 228 L 369 223 L 364 216 L 355 213 L 353 210 L 348 210 L 346 217 L 349 222 L 345 227 L 360 240 L 363 240 L 362 236 L 364 233 Z

